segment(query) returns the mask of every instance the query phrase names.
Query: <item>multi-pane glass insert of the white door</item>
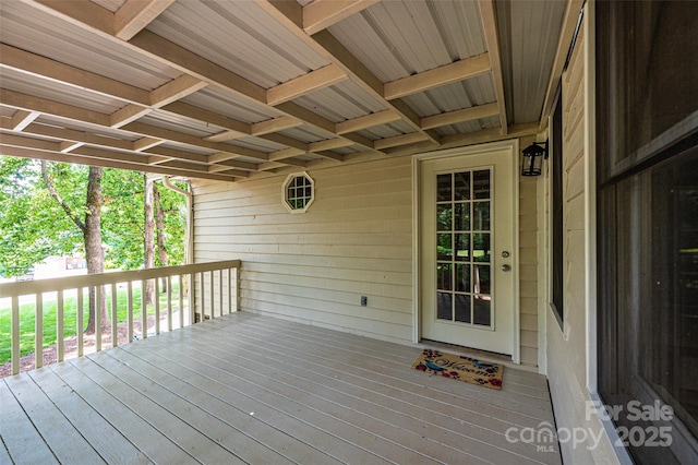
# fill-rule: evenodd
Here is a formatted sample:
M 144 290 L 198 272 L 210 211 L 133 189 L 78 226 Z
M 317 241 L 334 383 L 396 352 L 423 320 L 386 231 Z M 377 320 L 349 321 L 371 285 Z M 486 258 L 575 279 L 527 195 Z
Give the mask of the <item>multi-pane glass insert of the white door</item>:
M 436 318 L 492 326 L 492 171 L 436 175 Z

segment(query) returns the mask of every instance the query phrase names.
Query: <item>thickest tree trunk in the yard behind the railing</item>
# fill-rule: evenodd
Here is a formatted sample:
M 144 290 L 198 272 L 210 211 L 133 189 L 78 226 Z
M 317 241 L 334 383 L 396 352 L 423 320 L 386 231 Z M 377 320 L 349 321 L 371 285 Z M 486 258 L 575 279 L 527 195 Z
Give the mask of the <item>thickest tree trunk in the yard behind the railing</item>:
M 85 239 L 85 258 L 87 260 L 87 273 L 105 272 L 105 250 L 101 247 L 101 204 L 104 196 L 101 195 L 101 175 L 104 168 L 91 166 L 89 177 L 87 179 L 87 213 L 85 214 L 85 229 L 83 236 Z M 96 309 L 101 314 L 100 330 L 109 329 L 110 322 L 107 314 L 106 296 L 104 288 L 101 299 L 96 300 L 95 288 L 89 293 L 89 321 L 87 322 L 86 333 L 92 334 L 96 330 Z M 98 306 L 97 306 L 98 305 Z

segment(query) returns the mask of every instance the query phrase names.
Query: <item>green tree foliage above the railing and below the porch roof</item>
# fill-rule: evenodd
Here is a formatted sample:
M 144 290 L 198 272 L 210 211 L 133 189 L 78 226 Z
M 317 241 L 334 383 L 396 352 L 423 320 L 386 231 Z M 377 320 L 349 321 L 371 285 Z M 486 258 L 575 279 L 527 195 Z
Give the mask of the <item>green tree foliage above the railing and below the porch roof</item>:
M 65 203 L 84 217 L 88 167 L 49 163 L 48 170 Z M 50 255 L 84 254 L 82 233 L 48 193 L 39 162 L 0 156 L 0 274 L 21 276 Z M 107 269 L 144 265 L 143 189 L 142 172 L 104 170 L 101 234 Z M 185 202 L 176 192 L 159 191 L 169 264 L 181 264 Z

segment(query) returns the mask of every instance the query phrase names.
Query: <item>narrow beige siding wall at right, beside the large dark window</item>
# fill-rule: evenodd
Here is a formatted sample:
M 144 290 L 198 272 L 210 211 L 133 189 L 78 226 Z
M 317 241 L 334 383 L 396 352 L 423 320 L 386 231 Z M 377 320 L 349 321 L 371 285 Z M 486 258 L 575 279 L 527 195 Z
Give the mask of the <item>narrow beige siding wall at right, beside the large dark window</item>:
M 591 14 L 589 14 L 591 16 Z M 589 17 L 587 16 L 587 17 Z M 593 193 L 588 192 L 589 177 L 593 176 L 593 153 L 590 140 L 589 108 L 592 95 L 588 94 L 590 50 L 589 22 L 585 20 L 577 38 L 567 70 L 563 74 L 563 229 L 564 229 L 564 324 L 549 307 L 546 321 L 547 377 L 559 432 L 563 461 L 569 464 L 615 463 L 617 457 L 604 425 L 597 415 L 590 391 L 594 379 L 589 377 L 589 363 L 595 367 L 595 334 L 590 329 L 593 321 L 588 301 L 589 275 L 588 230 L 585 214 L 593 214 L 590 203 Z M 547 212 L 550 213 L 550 212 Z M 593 270 L 592 270 L 593 272 Z M 550 279 L 549 279 L 550 281 Z M 591 358 L 591 360 L 589 359 Z M 568 434 L 577 434 L 569 438 Z

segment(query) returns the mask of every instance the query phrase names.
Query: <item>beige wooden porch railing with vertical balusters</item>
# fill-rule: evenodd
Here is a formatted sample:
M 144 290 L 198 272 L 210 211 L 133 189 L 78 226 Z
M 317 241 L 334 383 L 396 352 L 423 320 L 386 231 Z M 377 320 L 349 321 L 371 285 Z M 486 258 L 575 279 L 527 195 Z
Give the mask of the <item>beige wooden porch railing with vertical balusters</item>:
M 167 266 L 116 273 L 70 276 L 56 279 L 37 279 L 0 284 L 0 308 L 11 307 L 11 353 L 12 374 L 20 372 L 21 318 L 27 318 L 33 307 L 35 327 L 34 353 L 35 367 L 44 362 L 44 307 L 50 300 L 56 305 L 56 351 L 57 361 L 64 359 L 64 335 L 67 329 L 77 338 L 77 356 L 84 355 L 84 320 L 88 312 L 89 291 L 96 293 L 96 301 L 105 297 L 106 309 L 111 326 L 106 333 L 111 335 L 111 346 L 119 344 L 119 329 L 127 332 L 127 342 L 146 338 L 148 334 L 172 331 L 197 321 L 208 320 L 238 310 L 240 261 L 197 263 L 184 266 Z M 160 282 L 165 279 L 166 289 L 160 291 Z M 155 299 L 147 305 L 146 284 L 154 282 Z M 123 289 L 125 288 L 125 296 Z M 173 290 L 176 289 L 176 290 Z M 134 290 L 140 290 L 135 299 Z M 46 297 L 49 295 L 49 297 Z M 67 296 L 71 300 L 71 312 L 75 312 L 74 327 L 65 325 L 64 310 Z M 118 303 L 118 300 L 125 302 Z M 160 299 L 164 302 L 160 302 Z M 21 302 L 22 314 L 21 314 Z M 29 310 L 27 310 L 27 303 Z M 119 313 L 125 321 L 120 322 Z M 98 307 L 97 307 L 98 308 Z M 29 314 L 31 317 L 31 314 Z M 140 319 L 140 331 L 134 331 L 134 322 Z M 72 319 L 71 319 L 72 320 Z M 95 327 L 103 327 L 101 312 L 95 311 Z M 137 326 L 137 325 L 136 325 Z M 95 331 L 95 350 L 101 350 L 103 332 Z M 7 341 L 1 342 L 7 344 Z

